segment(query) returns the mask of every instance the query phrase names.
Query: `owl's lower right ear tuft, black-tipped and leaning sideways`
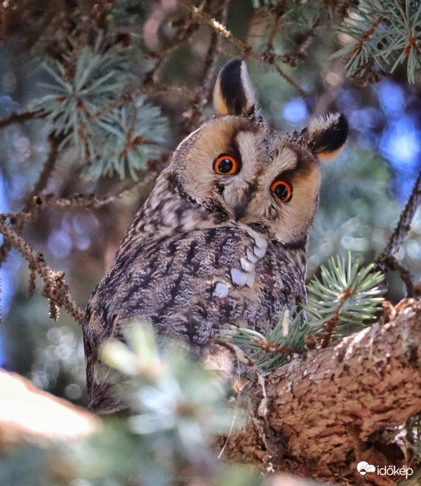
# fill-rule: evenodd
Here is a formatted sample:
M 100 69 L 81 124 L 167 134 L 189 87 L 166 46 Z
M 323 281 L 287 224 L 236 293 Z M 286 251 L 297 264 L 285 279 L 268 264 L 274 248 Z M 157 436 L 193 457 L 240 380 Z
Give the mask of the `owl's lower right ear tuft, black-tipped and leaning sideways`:
M 345 147 L 348 140 L 349 126 L 342 113 L 328 114 L 326 117 L 314 117 L 302 136 L 310 150 L 321 160 L 332 160 Z

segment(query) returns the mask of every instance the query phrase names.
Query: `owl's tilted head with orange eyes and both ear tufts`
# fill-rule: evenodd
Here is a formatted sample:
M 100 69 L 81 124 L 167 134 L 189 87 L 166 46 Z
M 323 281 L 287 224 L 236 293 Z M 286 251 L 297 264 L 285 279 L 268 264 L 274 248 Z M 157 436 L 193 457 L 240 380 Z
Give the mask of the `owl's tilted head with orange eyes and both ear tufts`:
M 171 171 L 182 192 L 222 221 L 239 221 L 283 244 L 307 239 L 319 202 L 320 162 L 345 146 L 342 114 L 300 132 L 276 133 L 255 113 L 246 64 L 232 60 L 215 84 L 216 115 L 187 137 Z

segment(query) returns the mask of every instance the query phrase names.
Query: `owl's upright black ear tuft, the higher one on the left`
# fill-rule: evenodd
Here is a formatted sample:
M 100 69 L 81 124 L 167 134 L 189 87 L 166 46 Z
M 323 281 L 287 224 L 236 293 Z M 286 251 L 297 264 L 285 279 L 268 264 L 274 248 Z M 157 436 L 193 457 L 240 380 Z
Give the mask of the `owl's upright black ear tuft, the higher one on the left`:
M 233 59 L 222 67 L 213 90 L 213 106 L 220 115 L 254 112 L 255 96 L 246 63 L 241 59 Z

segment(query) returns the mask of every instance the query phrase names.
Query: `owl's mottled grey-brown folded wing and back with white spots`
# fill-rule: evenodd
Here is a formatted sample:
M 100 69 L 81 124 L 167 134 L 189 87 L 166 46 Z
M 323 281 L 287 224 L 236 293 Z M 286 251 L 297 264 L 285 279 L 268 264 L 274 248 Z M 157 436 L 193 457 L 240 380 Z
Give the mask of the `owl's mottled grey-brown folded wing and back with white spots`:
M 98 360 L 110 337 L 123 340 L 131 317 L 196 353 L 227 324 L 267 332 L 283 306 L 305 298 L 304 276 L 260 233 L 241 223 L 145 239 L 118 254 L 88 303 L 83 329 L 91 409 L 116 409 Z M 98 400 L 98 403 L 97 403 Z

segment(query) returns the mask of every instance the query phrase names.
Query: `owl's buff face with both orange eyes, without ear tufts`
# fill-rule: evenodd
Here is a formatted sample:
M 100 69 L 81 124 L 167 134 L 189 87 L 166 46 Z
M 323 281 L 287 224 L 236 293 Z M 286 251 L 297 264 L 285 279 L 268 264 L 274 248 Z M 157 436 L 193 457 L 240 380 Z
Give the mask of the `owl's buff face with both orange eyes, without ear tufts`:
M 180 145 L 174 164 L 186 195 L 221 222 L 265 228 L 283 243 L 306 237 L 320 164 L 303 138 L 279 135 L 253 117 L 217 117 Z

